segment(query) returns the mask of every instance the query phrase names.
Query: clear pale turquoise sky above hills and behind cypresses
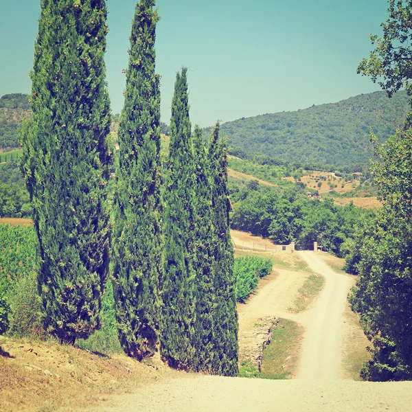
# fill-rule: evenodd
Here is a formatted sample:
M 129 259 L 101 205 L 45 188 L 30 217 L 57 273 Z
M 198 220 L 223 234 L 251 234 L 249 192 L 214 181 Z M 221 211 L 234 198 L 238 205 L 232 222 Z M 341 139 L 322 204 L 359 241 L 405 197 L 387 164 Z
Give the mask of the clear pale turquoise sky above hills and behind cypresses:
M 40 1 L 0 0 L 0 96 L 30 93 Z M 107 0 L 106 67 L 120 113 L 135 0 Z M 192 124 L 338 102 L 379 90 L 356 74 L 381 34 L 387 0 L 157 0 L 156 67 L 169 123 L 176 72 L 188 68 Z

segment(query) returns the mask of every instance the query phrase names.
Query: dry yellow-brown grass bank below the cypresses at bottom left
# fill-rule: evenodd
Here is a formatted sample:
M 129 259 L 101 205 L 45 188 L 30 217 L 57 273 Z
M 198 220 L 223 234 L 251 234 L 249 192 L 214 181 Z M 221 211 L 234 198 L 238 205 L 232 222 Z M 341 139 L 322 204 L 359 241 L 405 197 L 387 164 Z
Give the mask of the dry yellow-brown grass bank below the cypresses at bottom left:
M 163 378 L 187 376 L 124 355 L 99 356 L 54 341 L 0 336 L 1 411 L 77 411 L 114 393 L 131 393 Z M 73 406 L 76 405 L 76 406 Z

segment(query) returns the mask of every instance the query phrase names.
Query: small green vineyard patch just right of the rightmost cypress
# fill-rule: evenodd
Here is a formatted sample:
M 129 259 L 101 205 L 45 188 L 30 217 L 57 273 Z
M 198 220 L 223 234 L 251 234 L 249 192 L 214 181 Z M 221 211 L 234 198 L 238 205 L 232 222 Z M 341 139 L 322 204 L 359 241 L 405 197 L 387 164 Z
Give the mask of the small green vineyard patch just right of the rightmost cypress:
M 258 286 L 259 278 L 271 273 L 272 261 L 270 259 L 245 256 L 236 258 L 233 272 L 236 276 L 236 299 L 244 302 Z

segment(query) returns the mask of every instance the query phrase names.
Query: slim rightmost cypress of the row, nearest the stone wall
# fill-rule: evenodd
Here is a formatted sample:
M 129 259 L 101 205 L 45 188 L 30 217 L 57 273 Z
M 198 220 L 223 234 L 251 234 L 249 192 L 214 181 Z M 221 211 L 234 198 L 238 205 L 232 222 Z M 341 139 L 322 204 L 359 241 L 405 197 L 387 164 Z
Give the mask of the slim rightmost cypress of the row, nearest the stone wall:
M 212 271 L 216 309 L 214 311 L 213 361 L 214 374 L 238 374 L 238 313 L 236 311 L 233 273 L 233 244 L 229 227 L 230 201 L 227 190 L 227 148 L 219 140 L 216 124 L 209 144 L 209 176 L 211 207 L 214 211 L 214 261 Z

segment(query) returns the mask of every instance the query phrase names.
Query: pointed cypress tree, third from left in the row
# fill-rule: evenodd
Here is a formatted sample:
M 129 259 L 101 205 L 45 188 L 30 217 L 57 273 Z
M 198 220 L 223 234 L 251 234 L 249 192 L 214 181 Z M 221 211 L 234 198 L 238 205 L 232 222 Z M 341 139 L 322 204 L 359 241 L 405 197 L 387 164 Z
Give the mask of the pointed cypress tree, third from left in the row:
M 171 367 L 192 369 L 195 321 L 194 159 L 185 68 L 176 74 L 174 84 L 164 203 L 161 356 Z

